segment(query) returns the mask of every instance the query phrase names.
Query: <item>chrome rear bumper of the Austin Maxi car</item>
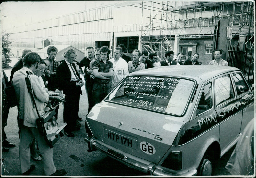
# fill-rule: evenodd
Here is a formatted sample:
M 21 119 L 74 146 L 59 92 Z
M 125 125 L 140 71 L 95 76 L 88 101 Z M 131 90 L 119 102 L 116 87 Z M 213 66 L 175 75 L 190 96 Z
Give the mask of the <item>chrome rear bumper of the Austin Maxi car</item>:
M 183 174 L 173 174 L 171 172 L 168 172 L 166 170 L 163 170 L 158 165 L 151 163 L 149 161 L 146 161 L 144 159 L 140 159 L 138 157 L 134 157 L 131 154 L 128 154 L 126 152 L 116 152 L 115 148 L 105 144 L 104 142 L 101 142 L 99 140 L 96 140 L 95 138 L 89 138 L 87 134 L 84 135 L 84 140 L 88 143 L 89 152 L 94 150 L 99 150 L 108 156 L 120 161 L 121 163 L 132 167 L 134 169 L 137 169 L 141 172 L 147 173 L 149 175 L 156 175 L 156 176 L 193 176 L 197 174 L 197 170 L 188 171 Z

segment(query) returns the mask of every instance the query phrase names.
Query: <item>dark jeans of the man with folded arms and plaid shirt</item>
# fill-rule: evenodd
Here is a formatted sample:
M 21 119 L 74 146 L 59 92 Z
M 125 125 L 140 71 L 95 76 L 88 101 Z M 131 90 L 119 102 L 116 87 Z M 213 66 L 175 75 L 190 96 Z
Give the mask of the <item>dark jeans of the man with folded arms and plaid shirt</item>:
M 100 103 L 111 91 L 110 84 L 94 83 L 92 89 L 93 105 Z

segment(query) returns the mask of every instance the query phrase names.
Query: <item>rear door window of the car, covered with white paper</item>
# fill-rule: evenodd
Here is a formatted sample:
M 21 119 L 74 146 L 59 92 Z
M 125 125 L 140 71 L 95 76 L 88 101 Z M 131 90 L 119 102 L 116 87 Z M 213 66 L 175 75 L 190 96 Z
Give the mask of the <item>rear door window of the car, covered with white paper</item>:
M 225 102 L 231 98 L 234 98 L 234 91 L 229 75 L 216 78 L 214 85 L 216 105 Z

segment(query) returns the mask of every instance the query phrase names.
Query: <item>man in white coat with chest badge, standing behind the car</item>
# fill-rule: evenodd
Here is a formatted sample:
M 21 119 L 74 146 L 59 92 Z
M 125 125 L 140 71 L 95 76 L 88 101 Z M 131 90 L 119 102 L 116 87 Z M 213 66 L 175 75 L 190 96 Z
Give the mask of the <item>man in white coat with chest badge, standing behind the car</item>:
M 114 75 L 112 77 L 112 89 L 114 89 L 116 85 L 129 74 L 127 62 L 120 57 L 121 51 L 122 48 L 116 47 L 114 50 L 114 57 L 109 60 L 113 63 L 114 67 Z

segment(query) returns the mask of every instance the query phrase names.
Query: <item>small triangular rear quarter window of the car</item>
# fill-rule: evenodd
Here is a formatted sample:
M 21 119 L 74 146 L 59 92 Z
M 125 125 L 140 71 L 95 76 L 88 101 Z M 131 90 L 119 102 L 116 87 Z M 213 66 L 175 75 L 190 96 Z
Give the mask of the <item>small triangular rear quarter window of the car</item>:
M 212 108 L 212 83 L 208 83 L 204 86 L 198 107 L 196 109 L 196 114 L 198 115 L 210 108 Z

